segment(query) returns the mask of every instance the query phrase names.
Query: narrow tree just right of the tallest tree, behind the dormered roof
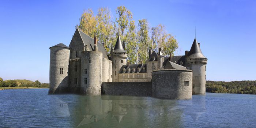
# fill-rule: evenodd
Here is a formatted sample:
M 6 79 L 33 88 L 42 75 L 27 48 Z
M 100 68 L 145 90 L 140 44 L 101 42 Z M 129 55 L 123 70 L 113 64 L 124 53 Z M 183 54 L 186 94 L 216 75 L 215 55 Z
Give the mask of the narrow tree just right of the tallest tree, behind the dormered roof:
M 139 39 L 139 44 L 138 44 L 138 58 L 139 61 L 143 61 L 144 63 L 147 60 L 147 54 L 148 54 L 148 49 L 150 47 L 150 38 L 149 38 L 149 26 L 148 26 L 148 21 L 147 19 L 141 19 L 139 20 L 138 24 L 138 39 Z M 138 59 L 137 59 L 138 60 Z

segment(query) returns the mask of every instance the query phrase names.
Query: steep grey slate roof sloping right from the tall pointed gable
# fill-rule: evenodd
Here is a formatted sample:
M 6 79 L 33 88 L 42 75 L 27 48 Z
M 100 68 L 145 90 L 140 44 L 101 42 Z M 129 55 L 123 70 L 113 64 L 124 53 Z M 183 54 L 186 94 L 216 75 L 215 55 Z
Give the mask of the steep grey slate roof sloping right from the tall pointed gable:
M 94 45 L 94 38 L 91 38 L 89 35 L 86 35 L 85 33 L 83 33 L 82 30 L 79 30 L 79 34 L 83 40 L 83 44 L 84 46 L 87 45 L 89 50 L 93 50 L 93 45 Z M 101 42 L 97 42 L 97 46 L 98 46 L 98 51 L 99 52 L 102 52 L 103 54 L 103 57 L 106 58 L 106 59 L 109 59 L 109 56 L 108 56 L 108 52 L 107 50 L 105 49 L 105 47 L 103 46 L 103 44 Z

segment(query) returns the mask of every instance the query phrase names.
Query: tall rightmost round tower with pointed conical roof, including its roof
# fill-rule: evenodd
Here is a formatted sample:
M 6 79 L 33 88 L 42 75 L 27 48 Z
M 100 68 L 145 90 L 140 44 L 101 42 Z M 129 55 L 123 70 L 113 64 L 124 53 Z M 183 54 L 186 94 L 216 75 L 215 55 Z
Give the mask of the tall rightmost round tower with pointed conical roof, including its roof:
M 207 58 L 203 55 L 196 38 L 188 52 L 187 63 L 193 71 L 193 94 L 205 95 Z

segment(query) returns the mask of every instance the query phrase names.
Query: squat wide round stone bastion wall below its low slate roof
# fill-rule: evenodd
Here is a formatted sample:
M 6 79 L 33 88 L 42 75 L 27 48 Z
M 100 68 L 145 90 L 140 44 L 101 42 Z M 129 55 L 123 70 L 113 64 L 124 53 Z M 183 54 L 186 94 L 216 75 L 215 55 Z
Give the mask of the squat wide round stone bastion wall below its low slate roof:
M 152 95 L 166 99 L 191 99 L 192 71 L 177 69 L 153 71 Z

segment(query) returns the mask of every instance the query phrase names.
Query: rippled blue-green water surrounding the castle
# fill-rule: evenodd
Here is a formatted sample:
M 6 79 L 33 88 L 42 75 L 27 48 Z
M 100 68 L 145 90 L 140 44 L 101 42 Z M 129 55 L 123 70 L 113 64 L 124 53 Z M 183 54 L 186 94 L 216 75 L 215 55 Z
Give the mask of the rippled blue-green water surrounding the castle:
M 0 128 L 256 127 L 256 95 L 151 97 L 48 95 L 48 89 L 0 91 Z

